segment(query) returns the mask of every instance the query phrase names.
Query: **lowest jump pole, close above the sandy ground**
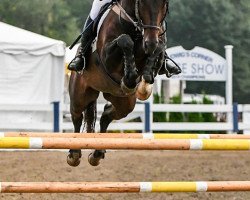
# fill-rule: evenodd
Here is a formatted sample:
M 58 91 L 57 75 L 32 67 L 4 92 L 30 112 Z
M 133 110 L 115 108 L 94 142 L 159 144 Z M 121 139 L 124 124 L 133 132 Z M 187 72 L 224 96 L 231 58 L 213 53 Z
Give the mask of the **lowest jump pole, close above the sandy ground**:
M 250 181 L 0 182 L 0 193 L 139 193 L 250 191 Z

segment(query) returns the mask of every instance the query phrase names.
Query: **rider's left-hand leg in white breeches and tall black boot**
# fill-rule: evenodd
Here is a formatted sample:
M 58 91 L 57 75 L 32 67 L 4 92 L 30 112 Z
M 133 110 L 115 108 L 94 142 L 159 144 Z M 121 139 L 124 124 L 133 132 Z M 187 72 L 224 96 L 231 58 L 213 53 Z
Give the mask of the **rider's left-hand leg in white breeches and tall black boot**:
M 73 71 L 81 71 L 83 68 L 85 68 L 86 62 L 85 62 L 85 54 L 88 51 L 89 47 L 91 46 L 91 43 L 93 39 L 96 37 L 96 32 L 94 31 L 94 23 L 93 21 L 97 18 L 102 6 L 104 6 L 106 3 L 111 2 L 112 0 L 94 0 L 89 17 L 87 18 L 81 37 L 81 44 L 79 47 L 79 52 L 76 55 L 76 57 L 71 61 L 71 63 L 68 66 L 69 70 Z

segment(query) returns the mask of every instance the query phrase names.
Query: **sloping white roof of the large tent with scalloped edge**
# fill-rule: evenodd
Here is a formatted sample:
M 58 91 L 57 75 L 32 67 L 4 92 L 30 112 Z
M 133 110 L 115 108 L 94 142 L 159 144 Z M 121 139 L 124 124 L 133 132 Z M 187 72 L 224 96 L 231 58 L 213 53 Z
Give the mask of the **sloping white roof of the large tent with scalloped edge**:
M 0 22 L 0 52 L 10 54 L 65 55 L 63 41 L 54 40 L 9 24 Z

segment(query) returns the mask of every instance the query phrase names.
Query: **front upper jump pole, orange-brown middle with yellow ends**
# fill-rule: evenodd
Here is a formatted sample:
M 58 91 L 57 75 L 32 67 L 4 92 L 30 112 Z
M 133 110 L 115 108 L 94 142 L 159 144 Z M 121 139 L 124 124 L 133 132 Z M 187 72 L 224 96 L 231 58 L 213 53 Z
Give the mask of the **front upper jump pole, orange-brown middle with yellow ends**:
M 250 140 L 2 137 L 1 149 L 249 150 Z

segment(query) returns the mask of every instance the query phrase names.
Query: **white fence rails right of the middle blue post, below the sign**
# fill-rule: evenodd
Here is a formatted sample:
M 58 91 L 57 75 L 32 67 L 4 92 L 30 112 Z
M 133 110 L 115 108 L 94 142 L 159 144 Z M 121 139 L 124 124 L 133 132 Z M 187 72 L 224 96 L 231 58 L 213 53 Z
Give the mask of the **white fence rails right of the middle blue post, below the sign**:
M 153 112 L 197 112 L 197 113 L 232 113 L 233 106 L 230 105 L 173 105 L 173 104 L 154 104 Z M 250 112 L 249 105 L 238 105 L 238 112 L 243 113 L 243 121 L 238 123 L 239 130 L 247 132 L 250 130 L 250 122 L 245 115 Z M 154 122 L 152 130 L 171 130 L 171 131 L 232 131 L 233 121 L 228 122 Z M 250 131 L 249 131 L 250 132 Z

